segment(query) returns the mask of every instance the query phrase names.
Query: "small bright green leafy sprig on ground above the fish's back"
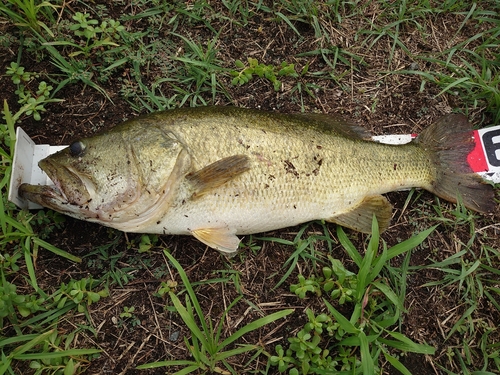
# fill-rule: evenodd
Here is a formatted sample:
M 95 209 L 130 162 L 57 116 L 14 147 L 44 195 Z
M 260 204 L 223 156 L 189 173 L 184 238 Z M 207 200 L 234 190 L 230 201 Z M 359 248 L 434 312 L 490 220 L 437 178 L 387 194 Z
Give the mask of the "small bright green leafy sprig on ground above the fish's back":
M 253 76 L 256 75 L 259 78 L 266 78 L 269 80 L 274 90 L 279 91 L 281 89 L 281 81 L 278 77 L 298 77 L 295 71 L 295 65 L 287 64 L 286 62 L 282 62 L 279 67 L 275 67 L 273 65 L 259 64 L 257 59 L 249 57 L 248 66 L 245 66 L 241 60 L 236 60 L 234 64 L 240 70 L 232 70 L 230 72 L 234 77 L 231 81 L 233 85 L 244 85 L 250 82 Z

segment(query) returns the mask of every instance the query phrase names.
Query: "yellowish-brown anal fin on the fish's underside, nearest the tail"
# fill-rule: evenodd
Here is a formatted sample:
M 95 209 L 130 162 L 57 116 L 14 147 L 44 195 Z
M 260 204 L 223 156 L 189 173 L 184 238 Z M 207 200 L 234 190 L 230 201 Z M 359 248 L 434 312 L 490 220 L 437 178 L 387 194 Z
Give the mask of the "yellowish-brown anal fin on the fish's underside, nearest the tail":
M 392 217 L 392 206 L 382 195 L 366 197 L 353 210 L 334 216 L 332 221 L 358 232 L 371 233 L 373 215 L 377 217 L 380 232 L 387 229 Z

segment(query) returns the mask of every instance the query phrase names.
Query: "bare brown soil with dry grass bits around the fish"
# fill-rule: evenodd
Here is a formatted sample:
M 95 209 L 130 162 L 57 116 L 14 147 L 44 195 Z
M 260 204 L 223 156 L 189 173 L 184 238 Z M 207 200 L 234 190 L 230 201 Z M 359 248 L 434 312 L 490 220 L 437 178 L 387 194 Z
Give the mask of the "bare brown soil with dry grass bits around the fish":
M 69 9 L 72 13 L 87 11 L 97 18 L 91 11 L 92 4 L 70 3 Z M 134 12 L 138 14 L 142 10 L 140 6 L 134 9 L 132 4 L 124 2 L 97 3 L 106 5 L 108 16 L 114 19 Z M 210 90 L 202 92 L 200 97 L 209 104 L 237 105 L 284 113 L 301 111 L 341 113 L 374 134 L 419 133 L 440 116 L 452 111 L 466 111 L 473 124 L 487 125 L 493 121 L 493 115 L 486 111 L 484 106 L 465 105 L 460 96 L 448 93 L 437 95 L 441 88 L 432 82 L 428 82 L 422 90 L 422 78 L 418 75 L 391 74 L 409 70 L 410 67 L 415 69 L 413 64 L 425 64 L 421 60 L 412 61 L 410 57 L 412 55 L 445 50 L 453 39 L 464 39 L 471 33 L 478 33 L 478 30 L 481 30 L 483 26 L 473 21 L 459 29 L 463 21 L 463 15 L 460 13 L 447 12 L 427 18 L 428 25 L 425 32 L 418 31 L 410 24 L 402 26 L 399 38 L 404 42 L 408 53 L 395 48 L 391 56 L 389 53 L 393 49 L 393 40 L 390 38 L 384 36 L 372 45 L 369 43 L 373 39 L 368 37 L 361 39 L 363 43 L 360 42 L 359 29 L 365 26 L 363 22 L 381 14 L 377 2 L 365 6 L 363 21 L 356 17 L 345 17 L 339 24 L 324 23 L 322 30 L 330 33 L 328 46 L 336 46 L 339 50 L 345 49 L 355 56 L 349 58 L 349 54 L 342 55 L 348 59 L 351 66 L 339 60 L 335 67 L 337 79 L 325 79 L 319 73 L 329 71 L 331 66 L 325 63 L 321 54 L 307 52 L 326 48 L 327 42 L 315 35 L 316 30 L 311 24 L 302 22 L 301 19 L 290 18 L 301 35 L 299 37 L 286 22 L 279 22 L 276 17 L 271 17 L 269 13 L 255 8 L 254 15 L 248 17 L 247 23 L 241 26 L 231 21 L 237 16 L 230 13 L 222 4 L 211 1 L 208 3 L 210 7 L 204 10 L 203 17 L 209 21 L 205 23 L 186 20 L 167 22 L 166 20 L 173 19 L 177 11 L 177 8 L 170 9 L 165 15 L 165 22 L 158 28 L 158 35 L 151 36 L 150 41 L 169 38 L 173 44 L 177 44 L 178 54 L 181 56 L 182 50 L 187 47 L 178 35 L 195 40 L 203 47 L 215 40 L 215 58 L 224 68 L 235 69 L 235 60 L 246 63 L 247 58 L 252 57 L 259 62 L 275 66 L 282 62 L 294 63 L 297 72 L 301 72 L 307 65 L 310 73 L 298 77 L 280 77 L 282 85 L 278 91 L 275 91 L 270 81 L 266 79 L 254 78 L 247 84 L 235 86 L 231 84 L 232 77 L 229 74 L 217 73 L 220 87 L 223 87 L 227 95 L 218 92 L 212 97 Z M 184 3 L 179 4 L 181 7 Z M 189 2 L 185 5 L 186 9 L 189 9 Z M 180 13 L 178 15 L 181 19 Z M 148 26 L 146 22 L 145 19 L 133 17 L 122 21 L 126 28 L 137 31 L 145 30 Z M 220 31 L 217 38 L 207 27 L 207 22 Z M 383 23 L 383 20 L 380 20 L 380 23 Z M 3 32 L 19 36 L 17 28 L 10 23 L 3 23 L 0 27 Z M 19 56 L 19 63 L 26 71 L 38 72 L 41 75 L 59 73 L 47 56 L 39 56 L 29 49 L 19 54 L 19 48 L 16 43 L 0 48 L 0 67 L 4 67 L 2 72 Z M 142 83 L 145 86 L 151 87 L 161 74 L 166 74 L 165 71 L 168 70 L 166 65 L 158 59 L 171 59 L 169 52 L 171 51 L 158 50 L 158 55 L 152 60 L 151 65 L 148 65 L 147 69 L 142 67 Z M 162 57 L 162 53 L 165 57 Z M 328 56 L 333 61 L 333 54 Z M 361 60 L 358 60 L 359 58 Z M 428 66 L 421 68 L 435 67 L 431 62 L 427 64 Z M 145 106 L 141 107 L 140 101 L 137 100 L 140 95 L 137 97 L 124 95 L 124 87 L 127 86 L 125 82 L 135 82 L 132 70 L 131 67 L 119 69 L 107 80 L 99 83 L 111 100 L 88 85 L 75 82 L 57 92 L 55 96 L 63 101 L 46 105 L 47 111 L 42 114 L 41 121 L 25 116 L 21 119 L 20 125 L 36 143 L 60 145 L 109 129 L 124 119 L 140 113 L 147 113 L 148 109 Z M 313 95 L 305 91 L 301 95 L 297 91 L 298 83 L 302 84 L 302 88 L 309 85 Z M 165 97 L 171 97 L 175 92 L 168 82 L 159 87 Z M 130 83 L 129 89 L 138 92 L 139 86 L 137 83 Z M 10 78 L 1 77 L 1 98 L 7 100 L 13 110 L 16 109 L 17 103 L 15 90 L 16 86 Z M 179 104 L 180 97 L 172 106 Z M 189 100 L 185 105 L 189 105 Z M 422 266 L 443 261 L 465 248 L 467 252 L 460 258 L 462 263 L 457 263 L 453 269 L 460 270 L 464 264 L 482 259 L 485 246 L 489 246 L 492 251 L 496 250 L 498 254 L 497 238 L 500 227 L 497 223 L 500 222 L 500 214 L 497 210 L 490 215 L 477 215 L 471 229 L 467 221 L 463 221 L 461 225 L 446 222 L 446 219 L 455 220 L 452 215 L 454 205 L 445 202 L 438 204 L 436 198 L 427 192 L 415 192 L 409 202 L 407 202 L 408 196 L 407 191 L 387 195 L 394 205 L 394 213 L 392 224 L 382 238 L 387 246 L 391 247 L 432 225 L 441 224 L 424 244 L 411 253 L 410 272 L 406 275 L 404 299 L 406 311 L 399 327 L 399 332 L 415 342 L 434 346 L 436 354 L 431 358 L 423 354 L 403 353 L 399 359 L 415 375 L 444 374 L 436 364 L 449 371 L 458 372 L 460 369 L 457 367 L 457 362 L 450 359 L 456 353 L 453 350 L 457 349 L 463 353 L 463 336 L 474 335 L 471 332 L 458 330 L 451 332 L 449 337 L 448 335 L 470 306 L 463 298 L 467 295 L 463 289 L 476 286 L 468 284 L 466 279 L 460 284 L 440 284 L 439 282 L 446 278 L 446 272 L 439 267 Z M 435 211 L 436 205 L 444 211 L 444 218 L 441 220 L 435 219 L 439 216 Z M 258 234 L 256 237 L 293 240 L 302 228 L 303 226 L 287 228 Z M 336 238 L 336 226 L 327 224 L 326 228 L 331 237 Z M 307 227 L 304 237 L 321 234 L 323 230 L 321 223 L 312 223 Z M 478 239 L 469 244 L 471 230 Z M 346 232 L 360 251 L 366 248 L 368 236 L 348 230 Z M 51 230 L 46 240 L 81 257 L 83 262 L 73 263 L 44 250 L 38 253 L 36 275 L 43 290 L 57 289 L 63 282 L 67 283 L 71 279 L 82 277 L 107 279 L 107 283 L 101 285 L 106 285 L 109 289 L 109 297 L 102 298 L 98 303 L 89 306 L 90 321 L 84 314 L 75 314 L 60 322 L 58 327 L 60 330 L 68 331 L 80 325 L 92 327 L 91 330 L 81 330 L 75 341 L 81 347 L 97 347 L 102 350 L 98 358 L 85 364 L 86 374 L 160 374 L 165 373 L 165 368 L 136 370 L 135 367 L 148 362 L 188 357 L 183 337 L 189 337 L 189 330 L 177 314 L 166 309 L 166 306 L 171 305 L 168 298 L 157 296 L 161 282 L 171 279 L 180 281 L 162 249 L 169 249 L 185 269 L 191 282 L 202 285 L 197 287 L 196 291 L 207 318 L 217 322 L 227 306 L 237 296 L 243 296 L 226 317 L 223 336 L 229 336 L 247 322 L 260 316 L 284 308 L 295 309 L 286 319 L 278 320 L 261 330 L 245 335 L 240 343 L 259 343 L 274 354 L 277 344 L 286 346 L 288 344 L 286 338 L 292 337 L 302 328 L 306 322 L 307 307 L 324 309 L 321 298 L 309 296 L 301 300 L 290 292 L 290 284 L 296 283 L 299 273 L 311 275 L 315 272 L 311 262 L 300 260 L 288 279 L 275 288 L 286 272 L 283 265 L 295 250 L 293 246 L 253 238 L 251 243 L 260 249 L 252 250 L 250 246 L 246 246 L 238 256 L 228 259 L 195 239 L 183 236 L 160 236 L 149 251 L 139 254 L 141 238 L 140 235 L 126 235 L 97 224 L 65 218 L 61 225 Z M 249 244 L 249 238 L 245 238 L 244 243 Z M 104 249 L 105 246 L 107 248 Z M 315 246 L 320 253 L 327 251 L 324 242 L 319 241 Z M 356 265 L 339 242 L 336 242 L 329 254 L 333 258 L 340 259 L 347 269 L 357 272 Z M 492 266 L 498 267 L 498 259 L 495 259 L 496 263 Z M 393 258 L 390 265 L 398 268 L 404 261 L 405 257 L 401 255 Z M 210 281 L 215 278 L 226 281 Z M 116 279 L 120 280 L 121 285 Z M 498 288 L 498 282 L 492 285 Z M 28 288 L 26 285 L 24 287 Z M 496 301 L 500 303 L 498 295 Z M 135 309 L 133 318 L 125 321 L 120 314 L 124 311 L 124 307 L 132 306 Z M 485 332 L 486 328 L 494 331 L 493 328 L 500 322 L 500 314 L 491 300 L 483 296 L 476 301 L 476 307 L 473 318 L 480 320 Z M 476 339 L 480 339 L 479 334 L 474 340 Z M 498 332 L 491 333 L 490 343 L 495 340 L 498 342 L 499 339 Z M 471 345 L 478 346 L 477 342 L 473 343 L 474 340 L 471 339 Z M 249 360 L 250 356 L 239 356 L 232 358 L 231 364 L 239 373 L 249 371 L 249 368 L 263 369 L 264 356 L 253 362 L 250 367 L 247 366 Z M 473 358 L 472 363 L 472 367 L 480 366 L 482 359 Z M 17 369 L 19 373 L 28 371 L 23 367 L 25 365 L 25 363 L 19 364 L 20 368 Z M 494 371 L 494 368 L 491 367 L 489 370 Z M 275 368 L 271 368 L 269 373 L 272 371 L 277 373 Z M 388 363 L 384 364 L 382 372 L 399 373 Z

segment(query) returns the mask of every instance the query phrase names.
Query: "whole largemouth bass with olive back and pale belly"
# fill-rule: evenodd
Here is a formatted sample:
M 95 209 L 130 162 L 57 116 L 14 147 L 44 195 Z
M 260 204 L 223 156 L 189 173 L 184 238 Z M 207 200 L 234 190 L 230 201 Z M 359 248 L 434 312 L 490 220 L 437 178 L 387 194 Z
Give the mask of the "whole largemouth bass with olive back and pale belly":
M 138 116 L 39 162 L 53 185 L 19 194 L 124 232 L 191 235 L 234 255 L 240 237 L 324 220 L 370 233 L 390 225 L 385 193 L 421 188 L 472 210 L 495 192 L 467 155 L 472 126 L 448 114 L 411 143 L 388 145 L 336 114 L 231 106 Z

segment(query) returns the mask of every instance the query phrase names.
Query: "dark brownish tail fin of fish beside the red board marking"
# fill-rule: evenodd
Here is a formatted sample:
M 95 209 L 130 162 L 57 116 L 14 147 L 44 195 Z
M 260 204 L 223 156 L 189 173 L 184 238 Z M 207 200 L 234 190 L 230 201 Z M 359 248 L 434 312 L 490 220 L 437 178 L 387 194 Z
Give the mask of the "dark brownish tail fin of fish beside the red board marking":
M 495 209 L 495 191 L 475 174 L 467 155 L 474 149 L 472 126 L 464 115 L 450 114 L 425 129 L 416 142 L 431 152 L 436 180 L 431 191 L 450 202 L 460 196 L 464 205 L 479 212 Z

